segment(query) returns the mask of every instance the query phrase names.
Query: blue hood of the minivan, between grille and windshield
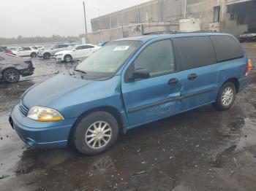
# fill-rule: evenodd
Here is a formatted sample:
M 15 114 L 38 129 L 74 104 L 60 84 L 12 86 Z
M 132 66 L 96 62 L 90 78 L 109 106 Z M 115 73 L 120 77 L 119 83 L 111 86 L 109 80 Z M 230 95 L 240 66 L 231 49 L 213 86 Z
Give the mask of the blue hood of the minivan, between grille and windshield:
M 22 102 L 29 108 L 32 106 L 48 106 L 48 104 L 62 95 L 90 82 L 92 81 L 59 74 L 26 90 L 23 94 Z

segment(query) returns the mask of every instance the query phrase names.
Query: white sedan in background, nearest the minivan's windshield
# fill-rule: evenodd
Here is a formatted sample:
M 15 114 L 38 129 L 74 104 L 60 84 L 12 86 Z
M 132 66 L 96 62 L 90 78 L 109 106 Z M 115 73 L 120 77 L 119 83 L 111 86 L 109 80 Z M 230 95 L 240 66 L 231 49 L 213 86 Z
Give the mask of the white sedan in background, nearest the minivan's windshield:
M 55 58 L 56 61 L 65 61 L 70 62 L 73 60 L 78 60 L 86 58 L 91 55 L 93 52 L 97 51 L 99 48 L 93 44 L 80 44 L 72 47 L 70 50 L 64 50 L 61 52 L 56 52 Z

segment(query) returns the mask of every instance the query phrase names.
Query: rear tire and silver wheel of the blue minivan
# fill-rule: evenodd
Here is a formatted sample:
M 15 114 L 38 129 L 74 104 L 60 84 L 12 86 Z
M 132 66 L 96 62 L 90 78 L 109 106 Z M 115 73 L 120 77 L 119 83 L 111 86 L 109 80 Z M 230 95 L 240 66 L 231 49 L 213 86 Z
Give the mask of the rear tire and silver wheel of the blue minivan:
M 232 82 L 226 82 L 219 90 L 217 101 L 213 104 L 219 111 L 229 110 L 236 99 L 236 87 Z

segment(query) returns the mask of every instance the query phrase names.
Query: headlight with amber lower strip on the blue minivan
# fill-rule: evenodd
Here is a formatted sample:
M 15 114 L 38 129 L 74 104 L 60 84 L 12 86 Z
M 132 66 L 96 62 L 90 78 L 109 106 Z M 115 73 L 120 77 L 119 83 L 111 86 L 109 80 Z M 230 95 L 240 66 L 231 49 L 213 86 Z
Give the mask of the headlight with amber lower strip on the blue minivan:
M 64 120 L 64 117 L 55 109 L 42 106 L 33 106 L 29 110 L 28 117 L 31 120 L 37 120 L 42 122 Z

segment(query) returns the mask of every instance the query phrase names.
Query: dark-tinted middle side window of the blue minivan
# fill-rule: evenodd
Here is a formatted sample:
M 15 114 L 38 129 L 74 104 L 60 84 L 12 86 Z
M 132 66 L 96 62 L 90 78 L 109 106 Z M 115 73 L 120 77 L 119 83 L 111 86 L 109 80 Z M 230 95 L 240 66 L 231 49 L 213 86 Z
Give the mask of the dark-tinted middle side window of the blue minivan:
M 180 37 L 175 41 L 181 53 L 182 70 L 217 63 L 214 47 L 208 36 Z

